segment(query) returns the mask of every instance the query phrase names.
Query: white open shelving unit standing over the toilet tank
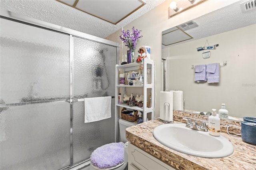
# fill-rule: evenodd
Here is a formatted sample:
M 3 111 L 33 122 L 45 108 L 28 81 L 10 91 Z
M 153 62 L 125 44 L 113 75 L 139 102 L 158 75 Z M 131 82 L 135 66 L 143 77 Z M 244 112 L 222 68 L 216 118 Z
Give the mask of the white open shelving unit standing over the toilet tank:
M 142 112 L 142 117 L 143 117 L 143 122 L 147 121 L 147 118 L 149 120 L 154 119 L 154 60 L 152 59 L 144 59 L 143 62 L 143 69 L 141 69 L 141 73 L 143 73 L 144 75 L 144 81 L 143 81 L 143 85 L 119 85 L 119 74 L 120 73 L 126 73 L 129 71 L 138 71 L 140 67 L 140 63 L 129 63 L 129 64 L 124 64 L 124 65 L 116 65 L 116 89 L 115 89 L 115 113 L 120 115 L 121 112 L 121 108 L 120 107 L 124 107 L 124 108 L 129 108 L 129 109 L 133 109 L 133 110 L 137 110 L 137 111 L 141 111 Z M 147 70 L 150 69 L 150 79 L 148 81 L 148 77 L 147 77 Z M 138 89 L 137 89 L 138 88 Z M 133 106 L 130 107 L 129 105 L 126 105 L 126 103 L 120 105 L 118 104 L 118 94 L 121 92 L 122 93 L 122 97 L 124 96 L 126 91 L 132 91 L 133 89 L 135 90 L 140 90 L 142 91 L 143 94 L 143 107 L 137 107 L 137 106 Z M 148 102 L 148 95 L 149 93 L 151 93 L 151 107 L 148 108 L 147 107 L 147 102 Z M 135 93 L 133 93 L 135 94 Z M 130 94 L 127 94 L 130 95 Z M 150 115 L 150 116 L 148 116 Z M 118 116 L 119 117 L 119 116 Z

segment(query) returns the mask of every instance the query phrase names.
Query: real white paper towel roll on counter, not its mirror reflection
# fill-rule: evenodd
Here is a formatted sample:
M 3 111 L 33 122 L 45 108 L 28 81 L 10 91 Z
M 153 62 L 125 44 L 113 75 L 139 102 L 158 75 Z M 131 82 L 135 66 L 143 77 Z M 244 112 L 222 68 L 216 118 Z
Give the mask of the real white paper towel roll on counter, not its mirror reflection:
M 173 92 L 160 91 L 160 119 L 165 122 L 173 121 Z

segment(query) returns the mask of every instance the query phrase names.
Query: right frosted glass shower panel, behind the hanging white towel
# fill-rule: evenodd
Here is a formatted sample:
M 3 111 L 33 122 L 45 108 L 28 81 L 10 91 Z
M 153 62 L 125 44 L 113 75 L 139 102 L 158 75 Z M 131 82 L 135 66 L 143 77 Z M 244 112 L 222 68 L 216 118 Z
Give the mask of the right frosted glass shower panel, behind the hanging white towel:
M 115 96 L 117 47 L 74 37 L 74 98 Z M 90 158 L 99 146 L 115 142 L 115 101 L 111 118 L 84 123 L 84 101 L 74 103 L 74 164 Z

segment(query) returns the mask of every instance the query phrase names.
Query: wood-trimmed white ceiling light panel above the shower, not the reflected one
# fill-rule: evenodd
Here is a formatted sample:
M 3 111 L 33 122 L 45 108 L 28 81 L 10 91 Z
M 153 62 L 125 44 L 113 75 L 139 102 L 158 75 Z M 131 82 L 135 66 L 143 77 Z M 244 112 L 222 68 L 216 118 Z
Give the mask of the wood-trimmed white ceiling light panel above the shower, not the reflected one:
M 141 0 L 57 0 L 102 20 L 117 24 L 144 6 Z M 110 8 L 111 7 L 111 8 Z

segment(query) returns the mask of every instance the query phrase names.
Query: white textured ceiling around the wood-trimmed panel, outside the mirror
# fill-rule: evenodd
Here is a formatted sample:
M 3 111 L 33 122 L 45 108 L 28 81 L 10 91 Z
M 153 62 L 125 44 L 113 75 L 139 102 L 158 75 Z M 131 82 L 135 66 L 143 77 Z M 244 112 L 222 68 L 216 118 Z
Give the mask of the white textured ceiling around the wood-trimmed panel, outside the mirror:
M 143 0 L 146 4 L 142 6 L 142 8 L 116 25 L 62 4 L 56 0 L 0 0 L 0 8 L 1 10 L 12 11 L 51 24 L 100 38 L 106 38 L 164 1 L 165 0 Z

